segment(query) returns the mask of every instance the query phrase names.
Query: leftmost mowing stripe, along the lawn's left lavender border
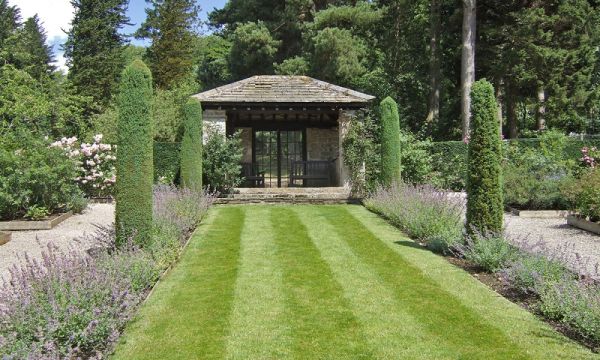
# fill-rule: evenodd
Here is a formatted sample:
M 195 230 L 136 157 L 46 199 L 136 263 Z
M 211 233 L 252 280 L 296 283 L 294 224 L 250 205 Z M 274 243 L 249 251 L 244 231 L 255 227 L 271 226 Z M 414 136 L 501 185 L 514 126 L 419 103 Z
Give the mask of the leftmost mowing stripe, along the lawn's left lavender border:
M 117 359 L 219 359 L 225 356 L 237 265 L 241 208 L 211 210 L 181 261 L 140 309 L 116 350 Z

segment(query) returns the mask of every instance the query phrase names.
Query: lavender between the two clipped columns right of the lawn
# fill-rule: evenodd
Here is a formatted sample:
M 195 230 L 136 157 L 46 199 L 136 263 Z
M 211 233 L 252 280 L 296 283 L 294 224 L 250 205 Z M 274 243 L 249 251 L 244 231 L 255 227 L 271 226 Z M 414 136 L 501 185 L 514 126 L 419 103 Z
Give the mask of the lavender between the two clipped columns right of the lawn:
M 448 253 L 463 241 L 464 200 L 432 186 L 380 187 L 365 206 L 434 251 Z

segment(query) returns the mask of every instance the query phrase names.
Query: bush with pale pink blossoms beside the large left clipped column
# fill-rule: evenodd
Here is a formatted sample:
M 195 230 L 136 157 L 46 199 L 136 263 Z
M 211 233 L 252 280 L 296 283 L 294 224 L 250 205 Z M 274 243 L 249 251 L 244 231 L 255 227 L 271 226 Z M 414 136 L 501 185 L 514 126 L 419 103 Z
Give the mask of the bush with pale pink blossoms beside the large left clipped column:
M 102 143 L 102 134 L 94 136 L 92 143 L 79 144 L 76 137 L 64 137 L 50 146 L 63 149 L 77 162 L 79 175 L 74 180 L 87 196 L 112 195 L 116 182 L 116 146 Z

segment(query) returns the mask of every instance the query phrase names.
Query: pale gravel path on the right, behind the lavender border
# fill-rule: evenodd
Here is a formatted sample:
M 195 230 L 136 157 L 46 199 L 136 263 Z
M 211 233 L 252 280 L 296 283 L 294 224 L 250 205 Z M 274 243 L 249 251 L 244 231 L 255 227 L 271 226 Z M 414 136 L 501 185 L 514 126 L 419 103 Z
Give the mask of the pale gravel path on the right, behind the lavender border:
M 588 271 L 600 264 L 600 235 L 567 225 L 563 218 L 530 219 L 505 214 L 506 232 L 516 239 L 542 240 L 549 248 L 568 249 L 582 256 Z

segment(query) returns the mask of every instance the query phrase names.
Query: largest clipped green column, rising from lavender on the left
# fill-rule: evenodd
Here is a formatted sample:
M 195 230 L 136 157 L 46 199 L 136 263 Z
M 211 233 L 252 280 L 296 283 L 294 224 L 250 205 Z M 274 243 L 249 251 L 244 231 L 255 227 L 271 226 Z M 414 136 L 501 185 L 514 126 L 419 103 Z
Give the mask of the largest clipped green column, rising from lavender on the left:
M 117 244 L 145 244 L 152 229 L 152 75 L 136 60 L 121 75 L 118 95 Z

